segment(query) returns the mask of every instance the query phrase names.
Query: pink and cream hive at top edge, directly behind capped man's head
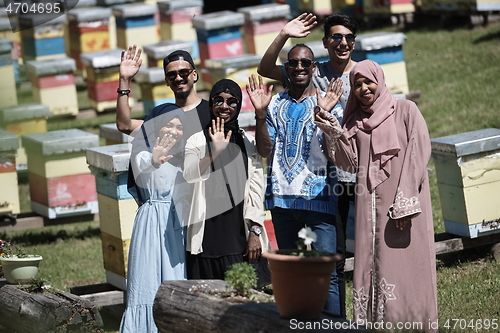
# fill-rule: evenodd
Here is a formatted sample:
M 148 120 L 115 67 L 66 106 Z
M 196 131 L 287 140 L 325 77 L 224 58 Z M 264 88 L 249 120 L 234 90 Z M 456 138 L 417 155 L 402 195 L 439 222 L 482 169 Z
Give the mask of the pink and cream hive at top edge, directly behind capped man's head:
M 203 1 L 161 1 L 158 2 L 158 9 L 160 11 L 161 39 L 164 41 L 184 41 L 191 43 L 191 51 L 189 53 L 193 57 L 195 64 L 199 64 L 198 38 L 191 19 L 202 15 Z

